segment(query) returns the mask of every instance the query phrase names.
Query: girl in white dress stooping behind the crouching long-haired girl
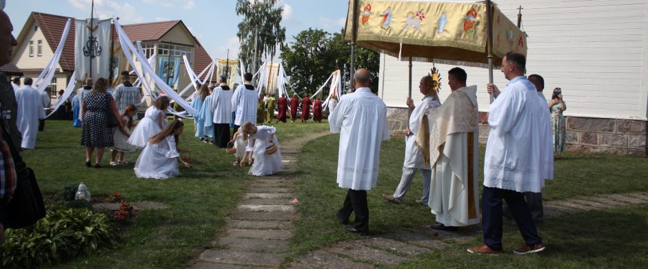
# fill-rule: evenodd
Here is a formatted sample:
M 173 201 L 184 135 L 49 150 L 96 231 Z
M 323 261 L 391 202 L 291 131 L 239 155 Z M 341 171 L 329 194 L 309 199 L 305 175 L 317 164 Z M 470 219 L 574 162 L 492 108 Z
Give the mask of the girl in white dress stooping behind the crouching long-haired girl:
M 144 118 L 139 121 L 135 130 L 128 138 L 128 143 L 137 148 L 144 148 L 148 140 L 157 133 L 167 128 L 167 121 L 164 111 L 169 107 L 169 97 L 159 97 L 144 113 Z

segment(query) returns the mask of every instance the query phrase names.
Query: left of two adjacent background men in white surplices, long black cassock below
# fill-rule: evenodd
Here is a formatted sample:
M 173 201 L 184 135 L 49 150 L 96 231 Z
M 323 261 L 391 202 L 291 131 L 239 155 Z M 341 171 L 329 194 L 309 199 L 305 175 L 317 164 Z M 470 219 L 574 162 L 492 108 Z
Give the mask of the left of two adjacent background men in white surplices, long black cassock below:
M 221 74 L 219 86 L 212 91 L 210 104 L 214 117 L 214 145 L 227 148 L 230 142 L 230 122 L 232 122 L 232 90 L 227 86 L 227 75 Z

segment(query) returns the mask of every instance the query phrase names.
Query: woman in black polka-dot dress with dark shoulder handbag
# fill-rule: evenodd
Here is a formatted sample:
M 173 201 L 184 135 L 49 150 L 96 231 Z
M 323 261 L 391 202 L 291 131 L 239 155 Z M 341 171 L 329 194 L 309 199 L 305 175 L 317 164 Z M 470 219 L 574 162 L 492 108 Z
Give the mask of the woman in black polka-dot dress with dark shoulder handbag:
M 105 147 L 114 146 L 113 133 L 111 128 L 117 127 L 124 135 L 128 132 L 124 126 L 117 111 L 117 104 L 112 98 L 112 94 L 106 92 L 108 80 L 102 78 L 94 82 L 92 90 L 85 94 L 81 107 L 83 108 L 81 117 L 83 126 L 81 126 L 81 146 L 85 146 L 85 166 L 92 167 L 90 157 L 92 152 L 97 148 L 97 157 L 94 168 L 101 168 L 101 159 Z M 112 117 L 112 119 L 110 119 Z M 111 126 L 112 125 L 112 126 Z

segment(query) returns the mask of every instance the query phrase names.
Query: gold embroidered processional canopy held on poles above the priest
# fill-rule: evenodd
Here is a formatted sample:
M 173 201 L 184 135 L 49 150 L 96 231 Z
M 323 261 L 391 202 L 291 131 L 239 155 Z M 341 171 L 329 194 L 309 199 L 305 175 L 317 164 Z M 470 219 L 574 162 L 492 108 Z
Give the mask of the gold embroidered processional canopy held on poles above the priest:
M 353 4 L 356 17 L 353 18 Z M 511 50 L 527 54 L 526 35 L 493 5 L 495 64 Z M 487 12 L 484 2 L 350 1 L 345 39 L 407 61 L 487 67 Z M 499 39 L 497 37 L 499 36 Z

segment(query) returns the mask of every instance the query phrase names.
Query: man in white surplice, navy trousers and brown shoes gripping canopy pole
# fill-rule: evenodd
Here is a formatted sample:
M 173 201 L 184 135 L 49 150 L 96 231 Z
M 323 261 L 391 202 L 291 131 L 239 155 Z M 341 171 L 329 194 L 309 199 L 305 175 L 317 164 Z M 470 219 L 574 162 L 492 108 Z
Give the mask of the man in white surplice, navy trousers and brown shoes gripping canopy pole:
M 543 240 L 531 217 L 524 192 L 540 192 L 545 179 L 554 178 L 554 153 L 547 103 L 538 98 L 536 87 L 525 77 L 527 60 L 523 54 L 509 52 L 502 60 L 502 72 L 509 80 L 499 91 L 489 84 L 496 97 L 490 106 L 491 127 L 484 157 L 482 192 L 482 230 L 484 244 L 468 252 L 502 252 L 502 200 L 506 200 L 525 245 L 515 254 L 545 250 Z

